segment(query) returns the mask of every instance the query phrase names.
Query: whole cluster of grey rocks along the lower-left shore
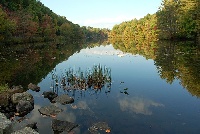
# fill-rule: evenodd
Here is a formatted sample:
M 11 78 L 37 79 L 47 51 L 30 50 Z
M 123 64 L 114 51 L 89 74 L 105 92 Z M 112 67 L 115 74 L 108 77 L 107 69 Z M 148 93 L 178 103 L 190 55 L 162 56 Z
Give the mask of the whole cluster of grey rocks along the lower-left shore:
M 35 92 L 40 91 L 40 87 L 30 83 L 28 89 Z M 52 103 L 70 104 L 74 102 L 74 99 L 70 96 L 61 95 L 49 91 L 44 92 L 44 97 L 48 98 Z M 13 86 L 11 89 L 0 93 L 0 134 L 39 134 L 37 123 L 30 122 L 24 124 L 21 129 L 15 129 L 15 126 L 22 120 L 26 119 L 26 115 L 34 109 L 34 97 L 25 91 L 22 86 Z M 42 115 L 49 117 L 56 117 L 56 115 L 62 112 L 62 109 L 54 106 L 44 106 L 38 109 L 38 112 Z M 15 117 L 19 117 L 16 119 Z M 52 121 L 52 129 L 55 132 L 71 131 L 77 127 L 78 124 L 74 124 L 68 121 L 60 121 L 54 119 Z

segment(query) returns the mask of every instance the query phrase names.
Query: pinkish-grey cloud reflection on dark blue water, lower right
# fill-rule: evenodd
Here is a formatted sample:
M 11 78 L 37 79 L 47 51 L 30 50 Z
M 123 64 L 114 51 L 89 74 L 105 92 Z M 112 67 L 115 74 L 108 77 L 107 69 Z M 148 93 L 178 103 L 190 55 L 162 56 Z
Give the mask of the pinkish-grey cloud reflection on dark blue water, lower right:
M 132 111 L 136 114 L 151 115 L 150 107 L 163 107 L 163 104 L 156 103 L 152 100 L 134 97 L 119 100 L 120 109 L 122 111 Z

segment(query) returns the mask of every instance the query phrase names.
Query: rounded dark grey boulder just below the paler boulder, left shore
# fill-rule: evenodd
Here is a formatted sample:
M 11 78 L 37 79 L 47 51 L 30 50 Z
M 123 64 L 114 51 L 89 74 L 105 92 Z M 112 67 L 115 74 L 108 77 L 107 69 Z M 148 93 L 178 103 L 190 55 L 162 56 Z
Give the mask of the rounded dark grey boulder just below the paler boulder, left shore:
M 32 111 L 33 109 L 34 109 L 34 106 L 29 101 L 21 100 L 16 105 L 17 113 L 19 113 L 20 116 L 21 115 L 26 115 L 26 114 L 30 113 L 30 111 Z

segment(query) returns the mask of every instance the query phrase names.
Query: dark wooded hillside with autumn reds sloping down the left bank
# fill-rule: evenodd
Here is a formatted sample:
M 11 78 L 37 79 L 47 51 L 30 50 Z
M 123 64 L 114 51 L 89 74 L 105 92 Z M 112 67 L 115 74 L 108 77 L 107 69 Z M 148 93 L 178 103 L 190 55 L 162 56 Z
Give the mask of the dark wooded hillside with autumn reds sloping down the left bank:
M 102 39 L 109 30 L 80 27 L 55 14 L 39 0 L 0 0 L 0 42 Z

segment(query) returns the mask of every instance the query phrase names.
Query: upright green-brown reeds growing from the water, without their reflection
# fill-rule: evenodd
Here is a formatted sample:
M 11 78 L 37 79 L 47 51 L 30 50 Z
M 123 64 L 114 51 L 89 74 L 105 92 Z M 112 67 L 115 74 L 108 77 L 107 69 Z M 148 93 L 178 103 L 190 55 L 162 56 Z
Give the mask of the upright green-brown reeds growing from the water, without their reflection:
M 94 65 L 92 68 L 86 69 L 86 71 L 82 71 L 80 67 L 78 70 L 69 68 L 60 77 L 56 73 L 52 73 L 52 80 L 54 80 L 56 85 L 60 84 L 66 90 L 86 90 L 88 88 L 97 90 L 105 85 L 110 88 L 111 69 L 100 64 Z

